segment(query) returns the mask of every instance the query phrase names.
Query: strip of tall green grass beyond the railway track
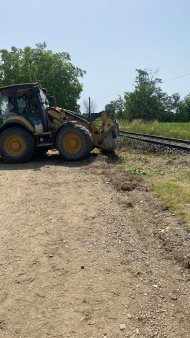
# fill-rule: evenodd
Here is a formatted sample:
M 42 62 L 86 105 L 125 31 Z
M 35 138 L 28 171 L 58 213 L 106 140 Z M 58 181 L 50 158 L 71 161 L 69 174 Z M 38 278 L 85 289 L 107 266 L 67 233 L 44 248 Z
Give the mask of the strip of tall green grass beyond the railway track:
M 154 121 L 146 123 L 141 120 L 135 120 L 130 123 L 126 121 L 121 121 L 119 125 L 120 129 L 135 133 L 190 140 L 190 122 L 166 123 Z

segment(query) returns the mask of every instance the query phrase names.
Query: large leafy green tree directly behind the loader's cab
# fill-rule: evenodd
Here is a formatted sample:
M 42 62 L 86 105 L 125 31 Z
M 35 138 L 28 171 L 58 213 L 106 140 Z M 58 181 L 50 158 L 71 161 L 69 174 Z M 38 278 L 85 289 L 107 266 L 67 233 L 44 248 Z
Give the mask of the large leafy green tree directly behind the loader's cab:
M 53 53 L 46 43 L 11 51 L 0 50 L 0 86 L 20 82 L 39 82 L 56 97 L 58 106 L 77 110 L 82 91 L 79 78 L 85 72 L 71 63 L 68 53 Z

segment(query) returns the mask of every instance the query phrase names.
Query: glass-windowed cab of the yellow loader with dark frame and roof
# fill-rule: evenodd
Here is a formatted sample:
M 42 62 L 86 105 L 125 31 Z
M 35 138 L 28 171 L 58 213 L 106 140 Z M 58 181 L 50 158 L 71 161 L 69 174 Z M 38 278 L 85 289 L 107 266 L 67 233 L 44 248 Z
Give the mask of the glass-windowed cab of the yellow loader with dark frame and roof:
M 36 132 L 48 128 L 46 109 L 49 103 L 38 84 L 20 84 L 0 88 L 0 128 L 13 116 L 23 116 Z

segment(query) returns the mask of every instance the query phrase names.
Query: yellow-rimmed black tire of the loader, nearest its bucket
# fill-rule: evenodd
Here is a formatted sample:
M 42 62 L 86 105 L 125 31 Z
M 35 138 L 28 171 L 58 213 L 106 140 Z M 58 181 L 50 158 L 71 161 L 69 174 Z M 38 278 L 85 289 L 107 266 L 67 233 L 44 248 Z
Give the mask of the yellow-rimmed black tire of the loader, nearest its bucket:
M 68 124 L 59 130 L 56 146 L 62 158 L 76 161 L 89 156 L 93 141 L 86 128 Z

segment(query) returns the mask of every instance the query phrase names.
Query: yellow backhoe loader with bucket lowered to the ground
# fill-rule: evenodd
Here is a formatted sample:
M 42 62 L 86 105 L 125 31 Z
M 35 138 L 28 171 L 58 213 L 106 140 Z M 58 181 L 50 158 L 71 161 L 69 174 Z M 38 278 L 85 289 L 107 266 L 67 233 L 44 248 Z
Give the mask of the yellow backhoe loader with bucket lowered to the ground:
M 27 162 L 35 152 L 48 149 L 57 149 L 66 160 L 80 160 L 94 147 L 112 151 L 117 136 L 118 124 L 107 112 L 84 118 L 51 107 L 38 83 L 0 88 L 0 156 L 7 163 Z

